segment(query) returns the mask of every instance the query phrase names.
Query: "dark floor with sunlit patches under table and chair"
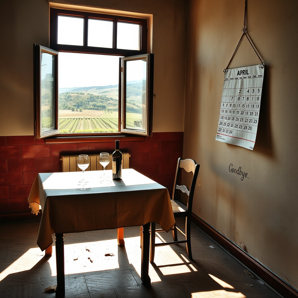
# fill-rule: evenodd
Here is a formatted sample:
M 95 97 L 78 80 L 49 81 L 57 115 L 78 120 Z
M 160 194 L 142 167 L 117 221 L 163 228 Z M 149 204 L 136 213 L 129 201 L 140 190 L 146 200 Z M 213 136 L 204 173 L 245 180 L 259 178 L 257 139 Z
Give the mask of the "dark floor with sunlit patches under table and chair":
M 55 297 L 44 291 L 56 285 L 55 247 L 44 257 L 38 227 L 39 221 L 0 223 L 1 298 Z M 156 247 L 150 288 L 140 279 L 139 227 L 125 228 L 125 248 L 117 245 L 117 230 L 65 234 L 66 297 L 280 297 L 194 225 L 191 234 L 192 261 L 185 244 Z M 156 242 L 158 236 L 171 239 L 159 233 Z

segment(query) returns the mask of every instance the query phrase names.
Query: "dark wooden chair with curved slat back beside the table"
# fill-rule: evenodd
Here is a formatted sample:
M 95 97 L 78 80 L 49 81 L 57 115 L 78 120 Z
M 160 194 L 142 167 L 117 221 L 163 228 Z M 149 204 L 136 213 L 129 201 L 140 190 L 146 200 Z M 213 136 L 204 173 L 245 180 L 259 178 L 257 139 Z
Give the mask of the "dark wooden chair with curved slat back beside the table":
M 176 224 L 172 228 L 173 232 L 173 242 L 162 242 L 162 243 L 155 243 L 155 232 L 161 232 L 163 229 L 155 229 L 155 223 L 151 223 L 150 229 L 150 263 L 154 262 L 154 254 L 155 254 L 155 246 L 162 246 L 162 245 L 170 245 L 170 244 L 179 244 L 179 243 L 186 243 L 186 250 L 188 257 L 190 259 L 193 258 L 191 253 L 191 244 L 190 244 L 190 219 L 191 219 L 191 211 L 193 207 L 193 193 L 195 191 L 195 183 L 197 181 L 198 172 L 199 172 L 200 165 L 196 164 L 193 159 L 178 159 L 177 169 L 176 169 L 176 176 L 175 176 L 175 183 L 173 188 L 173 199 L 171 200 L 174 218 L 178 217 L 185 217 L 185 233 L 176 226 Z M 186 172 L 193 173 L 193 179 L 191 182 L 190 190 L 185 185 L 178 185 L 179 184 L 179 177 L 181 169 L 184 169 Z M 182 191 L 188 195 L 187 199 L 187 206 L 182 204 L 180 201 L 176 200 L 178 191 Z M 185 236 L 185 240 L 178 241 L 177 239 L 177 230 L 181 232 Z

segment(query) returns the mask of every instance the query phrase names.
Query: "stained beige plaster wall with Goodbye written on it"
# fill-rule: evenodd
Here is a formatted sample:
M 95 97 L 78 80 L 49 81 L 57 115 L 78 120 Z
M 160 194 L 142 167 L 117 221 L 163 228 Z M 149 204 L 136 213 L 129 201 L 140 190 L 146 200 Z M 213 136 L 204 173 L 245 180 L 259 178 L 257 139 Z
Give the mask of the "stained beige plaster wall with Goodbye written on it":
M 193 212 L 298 288 L 296 0 L 248 0 L 247 32 L 266 63 L 257 139 L 253 151 L 215 141 L 244 3 L 187 3 L 183 157 L 201 164 L 202 179 Z M 259 63 L 244 38 L 229 68 Z M 248 178 L 230 173 L 230 164 Z

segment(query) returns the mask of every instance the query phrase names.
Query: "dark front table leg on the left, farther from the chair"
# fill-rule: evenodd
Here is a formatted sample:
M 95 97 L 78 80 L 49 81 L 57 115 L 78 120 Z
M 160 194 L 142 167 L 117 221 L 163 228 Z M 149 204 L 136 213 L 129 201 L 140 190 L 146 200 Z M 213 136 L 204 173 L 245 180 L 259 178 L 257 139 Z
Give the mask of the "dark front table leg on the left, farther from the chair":
M 55 233 L 56 247 L 56 268 L 57 268 L 57 288 L 56 297 L 65 296 L 65 276 L 64 276 L 64 234 Z

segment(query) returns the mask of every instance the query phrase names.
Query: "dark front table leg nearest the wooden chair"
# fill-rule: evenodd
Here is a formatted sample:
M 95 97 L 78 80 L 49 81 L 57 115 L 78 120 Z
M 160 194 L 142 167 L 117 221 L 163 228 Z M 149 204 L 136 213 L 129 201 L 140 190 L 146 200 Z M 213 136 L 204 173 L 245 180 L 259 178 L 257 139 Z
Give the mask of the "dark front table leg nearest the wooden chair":
M 149 277 L 149 251 L 150 251 L 150 223 L 142 226 L 142 260 L 141 260 L 141 280 L 145 286 L 151 284 Z

